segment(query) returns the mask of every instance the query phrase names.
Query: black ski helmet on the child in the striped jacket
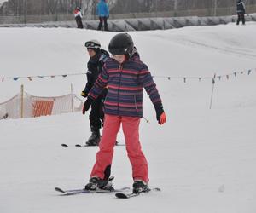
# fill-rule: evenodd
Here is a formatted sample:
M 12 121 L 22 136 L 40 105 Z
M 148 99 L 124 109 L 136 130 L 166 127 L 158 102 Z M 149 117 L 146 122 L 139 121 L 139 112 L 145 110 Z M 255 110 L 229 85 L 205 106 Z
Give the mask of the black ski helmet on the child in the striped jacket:
M 133 41 L 127 33 L 115 35 L 108 44 L 108 50 L 113 55 L 131 55 Z

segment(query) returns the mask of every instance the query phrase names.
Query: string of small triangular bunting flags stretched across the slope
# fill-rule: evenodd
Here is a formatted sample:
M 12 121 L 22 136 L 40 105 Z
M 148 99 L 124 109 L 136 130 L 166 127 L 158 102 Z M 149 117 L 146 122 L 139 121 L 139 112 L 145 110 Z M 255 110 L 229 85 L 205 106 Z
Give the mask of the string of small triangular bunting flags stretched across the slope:
M 230 74 L 224 74 L 224 75 L 218 75 L 216 76 L 216 74 L 214 75 L 214 78 L 212 77 L 170 77 L 170 76 L 152 76 L 152 78 L 166 78 L 168 80 L 172 79 L 183 79 L 183 83 L 186 83 L 188 79 L 198 79 L 199 82 L 201 82 L 202 79 L 212 79 L 212 83 L 215 83 L 215 79 L 218 78 L 218 80 L 221 80 L 222 78 L 226 78 L 227 80 L 230 79 L 231 76 L 235 76 L 237 77 L 238 74 L 243 74 L 245 72 L 247 72 L 248 75 L 250 75 L 252 72 L 256 72 L 256 68 L 254 69 L 250 69 L 247 71 L 241 71 L 241 72 L 232 72 Z M 26 78 L 29 81 L 32 81 L 33 78 L 55 78 L 55 77 L 62 77 L 62 78 L 67 78 L 69 76 L 79 76 L 79 75 L 86 75 L 85 72 L 79 72 L 79 73 L 71 73 L 71 74 L 61 74 L 61 75 L 38 75 L 38 76 L 26 76 L 26 77 L 0 77 L 2 78 L 2 82 L 5 79 L 13 79 L 14 81 L 18 81 L 20 78 Z

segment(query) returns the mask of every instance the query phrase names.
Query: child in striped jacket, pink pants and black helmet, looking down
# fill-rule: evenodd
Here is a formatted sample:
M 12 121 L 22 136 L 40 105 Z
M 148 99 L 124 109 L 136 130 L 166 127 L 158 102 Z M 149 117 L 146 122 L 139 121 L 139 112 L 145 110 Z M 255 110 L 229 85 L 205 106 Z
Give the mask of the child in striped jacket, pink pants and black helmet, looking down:
M 133 193 L 148 191 L 148 162 L 139 141 L 139 124 L 143 117 L 143 89 L 146 89 L 154 104 L 158 123 L 166 123 L 166 114 L 156 84 L 148 71 L 148 66 L 134 53 L 133 41 L 127 33 L 115 35 L 109 45 L 109 58 L 96 83 L 90 89 L 84 110 L 90 106 L 108 86 L 104 101 L 104 126 L 100 150 L 96 153 L 96 164 L 90 173 L 90 181 L 85 189 L 111 189 L 109 181 L 113 158 L 113 147 L 120 125 L 125 135 L 125 146 L 132 166 Z M 113 187 L 112 187 L 113 188 Z

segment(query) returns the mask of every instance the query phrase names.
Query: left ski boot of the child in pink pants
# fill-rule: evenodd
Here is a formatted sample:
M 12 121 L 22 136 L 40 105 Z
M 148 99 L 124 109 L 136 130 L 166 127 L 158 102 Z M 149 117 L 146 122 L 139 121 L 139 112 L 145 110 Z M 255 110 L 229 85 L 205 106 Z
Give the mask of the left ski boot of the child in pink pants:
M 113 192 L 112 187 L 113 176 L 109 177 L 108 180 L 102 180 L 99 177 L 91 177 L 89 183 L 84 187 L 86 190 L 95 191 L 96 189 L 107 190 Z

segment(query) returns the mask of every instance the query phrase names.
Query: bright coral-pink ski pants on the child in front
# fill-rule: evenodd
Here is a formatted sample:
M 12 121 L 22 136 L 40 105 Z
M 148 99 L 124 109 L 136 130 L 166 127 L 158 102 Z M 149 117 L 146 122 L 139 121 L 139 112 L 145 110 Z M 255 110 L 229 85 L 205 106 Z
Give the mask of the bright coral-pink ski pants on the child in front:
M 148 162 L 139 141 L 140 118 L 105 114 L 100 150 L 96 153 L 96 163 L 90 177 L 104 178 L 105 169 L 112 164 L 113 147 L 122 124 L 125 147 L 132 166 L 133 180 L 148 182 Z

